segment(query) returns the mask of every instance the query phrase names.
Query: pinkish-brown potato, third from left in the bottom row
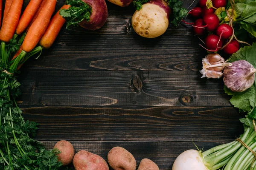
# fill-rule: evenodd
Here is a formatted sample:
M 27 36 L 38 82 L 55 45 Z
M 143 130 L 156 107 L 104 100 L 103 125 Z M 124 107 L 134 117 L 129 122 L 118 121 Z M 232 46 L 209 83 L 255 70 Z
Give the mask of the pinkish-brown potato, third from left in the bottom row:
M 136 160 L 123 147 L 113 147 L 108 152 L 108 163 L 114 170 L 136 170 Z

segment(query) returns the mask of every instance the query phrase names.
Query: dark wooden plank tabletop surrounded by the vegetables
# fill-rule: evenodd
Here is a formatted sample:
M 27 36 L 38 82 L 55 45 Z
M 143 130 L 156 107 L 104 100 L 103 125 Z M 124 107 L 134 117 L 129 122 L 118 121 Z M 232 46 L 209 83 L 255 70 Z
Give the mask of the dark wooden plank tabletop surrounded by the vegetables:
M 28 0 L 26 0 L 26 3 Z M 184 1 L 188 7 L 192 0 Z M 195 6 L 195 2 L 192 6 Z M 64 4 L 58 0 L 56 9 Z M 23 116 L 40 124 L 37 140 L 68 140 L 106 160 L 121 146 L 171 170 L 184 150 L 230 142 L 242 133 L 223 83 L 201 79 L 206 52 L 190 26 L 169 26 L 155 39 L 138 36 L 133 6 L 109 2 L 100 30 L 62 29 L 55 44 L 20 75 Z

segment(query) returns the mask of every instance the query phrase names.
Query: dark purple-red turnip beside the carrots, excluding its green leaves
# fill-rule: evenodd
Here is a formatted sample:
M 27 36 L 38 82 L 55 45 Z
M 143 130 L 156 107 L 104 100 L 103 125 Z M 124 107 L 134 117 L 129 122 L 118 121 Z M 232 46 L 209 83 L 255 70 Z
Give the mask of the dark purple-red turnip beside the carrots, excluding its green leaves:
M 79 26 L 96 30 L 101 28 L 108 17 L 108 7 L 105 0 L 82 0 L 84 3 L 88 3 L 92 8 L 92 13 L 90 14 L 90 21 L 87 22 L 83 20 L 79 23 Z

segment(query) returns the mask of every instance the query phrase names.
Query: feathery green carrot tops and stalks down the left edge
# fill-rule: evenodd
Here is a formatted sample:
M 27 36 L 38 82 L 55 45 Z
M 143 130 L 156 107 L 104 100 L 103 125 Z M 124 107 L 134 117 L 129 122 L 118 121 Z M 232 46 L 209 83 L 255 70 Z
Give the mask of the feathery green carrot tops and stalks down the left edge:
M 18 68 L 42 49 L 13 58 L 25 36 L 0 45 L 0 170 L 54 170 L 61 166 L 56 156 L 60 152 L 46 150 L 32 139 L 38 124 L 24 120 L 15 100 L 21 94 Z

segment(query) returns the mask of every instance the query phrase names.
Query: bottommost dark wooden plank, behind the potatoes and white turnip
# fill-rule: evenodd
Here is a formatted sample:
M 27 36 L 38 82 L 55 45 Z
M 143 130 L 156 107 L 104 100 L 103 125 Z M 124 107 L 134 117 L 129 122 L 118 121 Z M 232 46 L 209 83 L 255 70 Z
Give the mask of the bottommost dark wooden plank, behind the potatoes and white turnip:
M 48 149 L 52 149 L 57 141 L 41 141 Z M 171 170 L 172 164 L 177 156 L 185 150 L 196 149 L 192 142 L 99 142 L 99 141 L 70 141 L 75 149 L 88 150 L 92 153 L 102 156 L 107 161 L 107 155 L 111 148 L 119 146 L 124 147 L 131 152 L 137 161 L 137 167 L 141 159 L 148 158 L 154 161 L 160 170 Z M 199 148 L 210 149 L 222 142 L 195 142 Z M 72 165 L 70 165 L 72 167 Z M 110 170 L 113 170 L 110 168 Z

